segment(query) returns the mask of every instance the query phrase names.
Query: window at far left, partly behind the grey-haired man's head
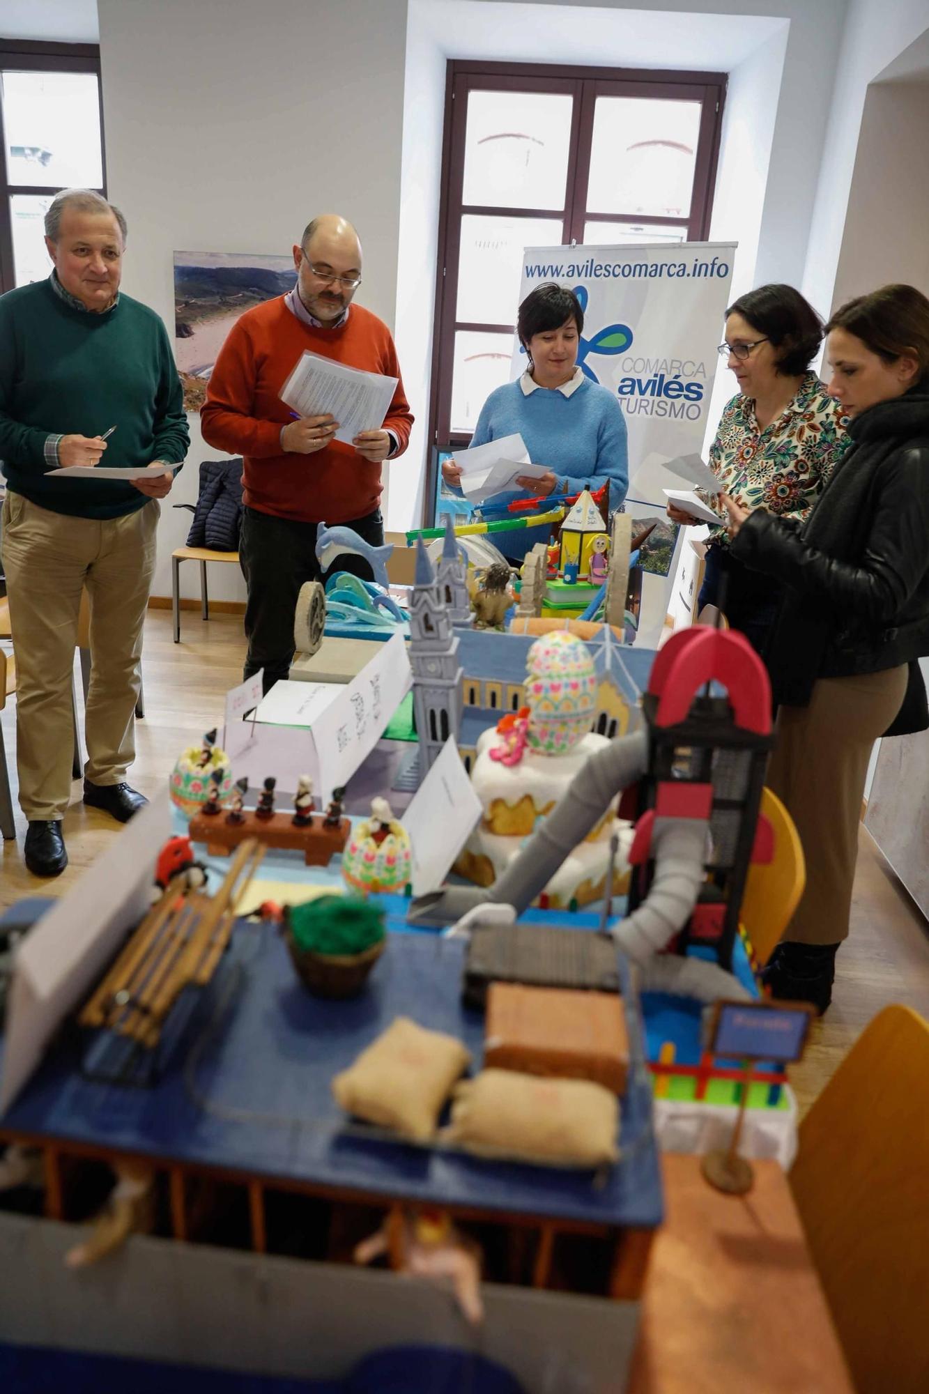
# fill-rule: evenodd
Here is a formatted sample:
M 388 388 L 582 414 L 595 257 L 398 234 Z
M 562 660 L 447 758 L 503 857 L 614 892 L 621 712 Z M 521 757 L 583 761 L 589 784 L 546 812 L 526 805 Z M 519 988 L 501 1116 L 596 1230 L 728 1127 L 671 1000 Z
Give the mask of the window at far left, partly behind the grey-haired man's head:
M 45 215 L 63 188 L 106 194 L 100 52 L 0 40 L 0 290 L 43 280 Z

